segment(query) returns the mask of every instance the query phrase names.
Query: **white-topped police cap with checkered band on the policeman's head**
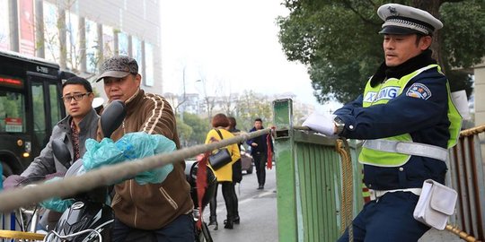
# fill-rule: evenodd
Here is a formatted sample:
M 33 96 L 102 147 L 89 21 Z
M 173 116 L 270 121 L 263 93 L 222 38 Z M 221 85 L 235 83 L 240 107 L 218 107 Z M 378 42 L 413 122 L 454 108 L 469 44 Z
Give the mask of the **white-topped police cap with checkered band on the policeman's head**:
M 433 31 L 443 28 L 443 23 L 430 13 L 406 5 L 384 4 L 377 14 L 384 20 L 381 34 L 433 35 Z

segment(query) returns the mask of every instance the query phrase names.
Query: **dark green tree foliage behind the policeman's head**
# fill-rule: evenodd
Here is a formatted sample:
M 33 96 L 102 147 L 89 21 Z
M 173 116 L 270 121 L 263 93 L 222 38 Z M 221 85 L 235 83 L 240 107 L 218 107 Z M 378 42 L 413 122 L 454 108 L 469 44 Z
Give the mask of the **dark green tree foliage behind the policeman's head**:
M 308 65 L 316 98 L 348 102 L 361 94 L 367 79 L 383 62 L 382 20 L 377 8 L 387 1 L 287 0 L 290 14 L 278 18 L 279 41 L 287 58 Z M 433 44 L 452 90 L 471 92 L 463 70 L 485 56 L 484 1 L 393 1 L 438 13 L 444 22 Z M 452 68 L 453 66 L 453 68 Z

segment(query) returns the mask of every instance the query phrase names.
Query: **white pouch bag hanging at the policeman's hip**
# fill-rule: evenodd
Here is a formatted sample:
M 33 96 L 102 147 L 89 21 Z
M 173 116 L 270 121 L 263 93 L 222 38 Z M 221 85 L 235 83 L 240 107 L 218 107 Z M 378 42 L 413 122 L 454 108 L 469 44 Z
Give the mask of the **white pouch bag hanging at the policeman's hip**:
M 454 212 L 457 198 L 454 189 L 428 179 L 423 183 L 413 217 L 430 227 L 443 230 L 448 216 Z

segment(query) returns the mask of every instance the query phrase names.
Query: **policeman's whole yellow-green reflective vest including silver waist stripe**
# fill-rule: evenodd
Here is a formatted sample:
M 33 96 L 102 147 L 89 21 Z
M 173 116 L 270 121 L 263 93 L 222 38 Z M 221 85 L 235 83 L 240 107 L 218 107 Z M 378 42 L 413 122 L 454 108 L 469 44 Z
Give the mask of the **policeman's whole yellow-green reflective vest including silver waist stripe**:
M 422 73 L 432 68 L 437 68 L 437 72 L 441 73 L 440 67 L 438 65 L 428 65 L 426 67 L 420 68 L 413 73 L 402 76 L 401 79 L 390 78 L 386 80 L 386 82 L 381 83 L 375 87 L 372 87 L 370 85 L 369 80 L 369 82 L 367 82 L 366 84 L 366 90 L 364 91 L 362 106 L 364 108 L 368 108 L 376 104 L 385 105 L 389 100 L 401 95 L 402 91 L 404 91 L 404 88 L 412 78 L 419 75 L 419 73 Z M 458 110 L 454 107 L 448 82 L 446 82 L 446 90 L 448 92 L 448 118 L 451 123 L 451 125 L 448 127 L 448 130 L 450 132 L 448 148 L 450 148 L 453 147 L 454 144 L 456 144 L 457 142 L 462 125 L 462 118 L 458 113 Z M 411 155 L 429 157 L 428 155 L 426 155 L 426 153 L 428 153 L 428 150 L 425 150 L 427 152 L 422 152 L 412 151 L 410 149 L 411 147 L 416 148 L 417 150 L 423 149 L 423 147 L 420 146 L 420 144 L 423 143 L 413 143 L 410 134 L 401 134 L 387 137 L 385 139 L 369 141 L 369 143 L 367 143 L 367 146 L 366 143 L 364 143 L 362 151 L 360 152 L 358 157 L 358 161 L 363 164 L 379 167 L 399 167 L 408 162 Z M 400 144 L 399 149 L 397 149 L 398 143 Z M 443 160 L 443 157 L 445 157 L 444 160 L 446 160 L 446 156 L 444 156 L 444 153 L 442 152 L 442 150 L 445 150 L 444 148 L 431 144 L 425 145 L 427 149 L 432 147 L 433 150 L 436 151 L 431 158 Z

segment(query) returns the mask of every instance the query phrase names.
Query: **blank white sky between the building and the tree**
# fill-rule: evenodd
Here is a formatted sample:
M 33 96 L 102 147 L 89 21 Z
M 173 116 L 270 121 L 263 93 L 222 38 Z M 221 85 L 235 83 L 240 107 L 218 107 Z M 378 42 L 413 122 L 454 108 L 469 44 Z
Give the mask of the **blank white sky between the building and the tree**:
M 208 95 L 292 92 L 326 109 L 313 96 L 306 67 L 287 61 L 278 42 L 276 18 L 288 14 L 281 2 L 162 0 L 164 92 L 183 93 L 185 79 L 187 93 L 202 94 L 203 84 Z

